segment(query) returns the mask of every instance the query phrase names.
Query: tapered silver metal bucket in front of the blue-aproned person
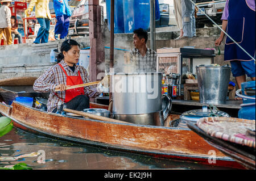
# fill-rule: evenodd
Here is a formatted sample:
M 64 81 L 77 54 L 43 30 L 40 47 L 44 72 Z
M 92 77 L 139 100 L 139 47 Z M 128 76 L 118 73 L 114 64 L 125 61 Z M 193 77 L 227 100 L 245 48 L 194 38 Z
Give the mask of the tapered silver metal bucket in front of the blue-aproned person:
M 225 66 L 196 66 L 197 81 L 200 91 L 200 103 L 225 104 L 231 68 Z

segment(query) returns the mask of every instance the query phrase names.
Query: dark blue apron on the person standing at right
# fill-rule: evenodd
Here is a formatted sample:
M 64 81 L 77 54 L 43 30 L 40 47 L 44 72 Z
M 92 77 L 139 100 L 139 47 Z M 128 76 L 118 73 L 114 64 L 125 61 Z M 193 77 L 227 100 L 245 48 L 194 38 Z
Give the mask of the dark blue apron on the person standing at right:
M 229 0 L 228 27 L 226 32 L 246 52 L 255 57 L 255 11 L 250 9 L 246 0 Z M 224 60 L 250 61 L 252 58 L 227 36 Z

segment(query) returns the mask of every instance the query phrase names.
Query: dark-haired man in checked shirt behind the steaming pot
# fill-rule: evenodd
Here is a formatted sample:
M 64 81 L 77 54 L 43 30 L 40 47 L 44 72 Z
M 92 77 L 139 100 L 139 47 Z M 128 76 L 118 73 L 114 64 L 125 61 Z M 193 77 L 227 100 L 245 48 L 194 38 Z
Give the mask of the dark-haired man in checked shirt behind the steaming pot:
M 156 52 L 146 46 L 148 33 L 139 28 L 134 30 L 133 44 L 134 49 L 125 54 L 127 64 L 133 66 L 133 72 L 150 73 L 156 71 Z

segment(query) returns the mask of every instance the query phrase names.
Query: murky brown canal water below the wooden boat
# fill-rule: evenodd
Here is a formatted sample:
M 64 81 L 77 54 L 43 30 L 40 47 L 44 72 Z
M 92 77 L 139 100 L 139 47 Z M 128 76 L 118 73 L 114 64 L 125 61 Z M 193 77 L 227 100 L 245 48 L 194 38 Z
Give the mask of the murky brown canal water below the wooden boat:
M 45 153 L 31 157 L 22 157 L 23 154 Z M 32 169 L 97 169 L 97 170 L 138 170 L 138 169 L 226 169 L 200 165 L 193 162 L 170 161 L 147 157 L 144 155 L 99 149 L 87 145 L 73 144 L 71 142 L 53 140 L 39 137 L 14 128 L 11 132 L 0 138 L 0 158 L 18 158 L 17 160 L 1 160 L 0 167 L 26 163 Z

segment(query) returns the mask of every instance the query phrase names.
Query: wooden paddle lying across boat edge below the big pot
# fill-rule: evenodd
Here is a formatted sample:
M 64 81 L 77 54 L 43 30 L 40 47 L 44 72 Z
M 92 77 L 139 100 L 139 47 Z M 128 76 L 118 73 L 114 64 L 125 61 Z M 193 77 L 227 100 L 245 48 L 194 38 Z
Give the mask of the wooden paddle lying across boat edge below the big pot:
M 114 123 L 133 124 L 133 123 L 125 122 L 125 121 L 120 121 L 120 120 L 116 120 L 116 119 L 111 119 L 111 118 L 109 118 L 109 117 L 93 115 L 93 114 L 91 114 L 91 113 L 86 113 L 86 112 L 82 112 L 82 111 L 70 110 L 70 109 L 68 109 L 68 108 L 65 108 L 63 111 L 75 113 L 76 115 L 81 115 L 81 116 L 84 116 L 84 117 L 89 117 L 89 118 L 91 118 L 91 119 L 96 119 L 96 120 L 101 120 L 101 121 L 109 121 L 109 122 L 114 122 Z

